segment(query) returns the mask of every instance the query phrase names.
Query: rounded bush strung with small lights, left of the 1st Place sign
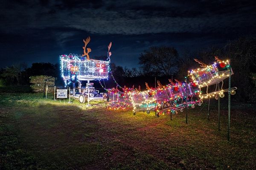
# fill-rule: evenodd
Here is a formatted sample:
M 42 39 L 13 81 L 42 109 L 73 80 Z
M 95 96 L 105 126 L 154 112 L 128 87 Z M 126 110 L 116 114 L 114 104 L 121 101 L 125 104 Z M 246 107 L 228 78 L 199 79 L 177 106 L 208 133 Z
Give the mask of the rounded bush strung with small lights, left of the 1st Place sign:
M 44 92 L 46 91 L 46 87 L 55 85 L 55 77 L 51 76 L 31 76 L 30 79 L 30 87 L 34 92 Z M 53 92 L 53 87 L 48 87 L 48 92 Z

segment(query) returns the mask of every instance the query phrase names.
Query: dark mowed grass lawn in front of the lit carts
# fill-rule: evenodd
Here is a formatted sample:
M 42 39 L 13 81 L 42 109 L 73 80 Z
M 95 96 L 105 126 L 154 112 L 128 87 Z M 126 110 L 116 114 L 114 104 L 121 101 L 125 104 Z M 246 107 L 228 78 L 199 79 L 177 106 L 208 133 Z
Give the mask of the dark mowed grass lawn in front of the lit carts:
M 231 141 L 227 107 L 207 103 L 172 116 L 113 111 L 1 92 L 0 169 L 256 169 L 256 111 L 233 102 Z M 221 105 L 227 103 L 221 100 Z

